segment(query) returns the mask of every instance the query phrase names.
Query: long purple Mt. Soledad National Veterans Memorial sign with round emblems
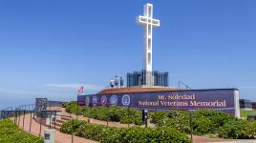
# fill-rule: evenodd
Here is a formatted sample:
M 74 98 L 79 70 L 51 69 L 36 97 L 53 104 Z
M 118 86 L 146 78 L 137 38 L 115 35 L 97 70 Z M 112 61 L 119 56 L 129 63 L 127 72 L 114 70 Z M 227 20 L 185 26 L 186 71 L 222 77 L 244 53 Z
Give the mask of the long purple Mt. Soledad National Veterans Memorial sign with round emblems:
M 237 89 L 185 90 L 175 92 L 125 92 L 77 97 L 78 105 L 129 106 L 151 110 L 220 110 L 240 117 Z

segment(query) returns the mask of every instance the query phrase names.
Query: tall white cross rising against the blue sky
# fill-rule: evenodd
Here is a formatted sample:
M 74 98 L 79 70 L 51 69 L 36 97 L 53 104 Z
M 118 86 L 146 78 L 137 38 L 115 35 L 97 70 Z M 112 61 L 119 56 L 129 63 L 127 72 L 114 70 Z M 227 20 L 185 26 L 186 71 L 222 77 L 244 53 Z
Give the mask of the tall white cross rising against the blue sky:
M 153 18 L 153 5 L 144 5 L 144 15 L 137 17 L 137 22 L 145 28 L 144 31 L 144 69 L 152 72 L 152 29 L 160 27 L 160 20 Z

